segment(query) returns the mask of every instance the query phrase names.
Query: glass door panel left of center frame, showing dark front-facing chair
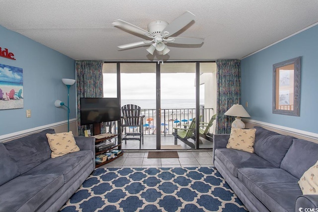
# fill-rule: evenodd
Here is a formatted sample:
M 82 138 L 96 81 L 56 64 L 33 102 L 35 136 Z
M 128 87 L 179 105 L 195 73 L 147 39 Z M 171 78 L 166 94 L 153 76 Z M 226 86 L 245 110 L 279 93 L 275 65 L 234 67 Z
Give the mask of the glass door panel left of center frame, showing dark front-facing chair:
M 121 63 L 120 87 L 121 106 L 138 105 L 143 116 L 142 129 L 136 126 L 123 129 L 129 140 L 123 140 L 122 149 L 156 149 L 156 63 Z M 141 144 L 134 136 L 128 136 L 140 131 Z

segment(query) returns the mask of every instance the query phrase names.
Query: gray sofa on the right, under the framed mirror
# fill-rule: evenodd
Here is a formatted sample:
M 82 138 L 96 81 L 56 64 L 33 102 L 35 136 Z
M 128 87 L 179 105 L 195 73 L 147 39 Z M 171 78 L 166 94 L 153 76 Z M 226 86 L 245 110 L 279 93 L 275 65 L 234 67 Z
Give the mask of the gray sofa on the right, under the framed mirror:
M 318 195 L 303 195 L 298 181 L 318 160 L 318 143 L 255 127 L 254 153 L 226 148 L 214 135 L 213 161 L 251 212 L 318 211 Z

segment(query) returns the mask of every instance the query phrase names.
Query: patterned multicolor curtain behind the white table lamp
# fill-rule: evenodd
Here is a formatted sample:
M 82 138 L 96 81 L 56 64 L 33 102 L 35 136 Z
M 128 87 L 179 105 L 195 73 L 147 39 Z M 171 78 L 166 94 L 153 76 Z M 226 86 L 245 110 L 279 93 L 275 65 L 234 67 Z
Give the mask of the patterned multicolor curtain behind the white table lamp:
M 240 60 L 217 60 L 217 122 L 216 134 L 231 132 L 233 116 L 224 115 L 240 101 Z

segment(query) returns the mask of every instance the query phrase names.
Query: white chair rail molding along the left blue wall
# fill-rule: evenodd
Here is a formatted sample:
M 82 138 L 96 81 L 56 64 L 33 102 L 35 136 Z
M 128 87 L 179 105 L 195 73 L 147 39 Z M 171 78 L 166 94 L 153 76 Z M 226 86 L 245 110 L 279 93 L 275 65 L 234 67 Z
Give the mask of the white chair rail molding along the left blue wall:
M 77 122 L 77 119 L 70 119 L 70 123 L 72 123 L 72 122 Z M 15 138 L 27 136 L 27 135 L 30 135 L 33 133 L 37 133 L 37 132 L 46 130 L 46 129 L 55 128 L 55 127 L 58 127 L 61 125 L 65 125 L 67 123 L 68 123 L 68 121 L 62 121 L 62 122 L 57 122 L 57 123 L 53 123 L 53 124 L 49 124 L 49 125 L 36 127 L 36 128 L 31 128 L 31 129 L 27 129 L 27 130 L 22 130 L 22 131 L 18 131 L 18 132 L 14 132 L 14 133 L 1 135 L 0 142 L 4 142 L 4 141 L 12 140 Z

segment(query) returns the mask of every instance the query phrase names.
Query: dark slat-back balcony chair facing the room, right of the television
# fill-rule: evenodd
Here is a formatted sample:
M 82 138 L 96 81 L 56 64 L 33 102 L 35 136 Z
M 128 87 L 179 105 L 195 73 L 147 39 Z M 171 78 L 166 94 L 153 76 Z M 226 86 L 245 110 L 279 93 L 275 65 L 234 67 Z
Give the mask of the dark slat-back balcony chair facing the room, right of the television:
M 127 143 L 127 140 L 138 140 L 139 148 L 141 149 L 141 144 L 144 143 L 144 115 L 141 115 L 141 108 L 137 105 L 128 104 L 121 107 L 122 112 L 122 123 L 121 123 L 121 132 L 124 132 L 122 140 Z M 137 128 L 137 131 L 127 132 L 126 128 Z

